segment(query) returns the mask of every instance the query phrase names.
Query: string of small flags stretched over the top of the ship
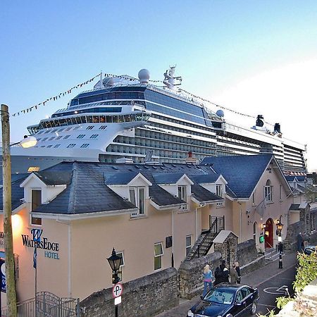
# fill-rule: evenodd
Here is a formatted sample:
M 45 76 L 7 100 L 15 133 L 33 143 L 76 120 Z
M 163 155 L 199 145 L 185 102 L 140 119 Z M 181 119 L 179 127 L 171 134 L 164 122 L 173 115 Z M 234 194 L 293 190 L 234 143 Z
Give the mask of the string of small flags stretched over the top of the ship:
M 102 73 L 99 73 L 99 74 L 95 75 L 94 77 L 90 78 L 89 80 L 86 80 L 85 82 L 82 82 L 82 83 L 80 83 L 80 84 L 78 84 L 78 85 L 75 85 L 74 87 L 71 87 L 70 89 L 66 90 L 65 92 L 61 92 L 61 93 L 57 94 L 57 95 L 54 96 L 54 97 L 51 97 L 51 98 L 48 98 L 48 99 L 46 99 L 46 100 L 44 100 L 44 101 L 42 101 L 42 102 L 39 102 L 39 104 L 36 104 L 36 105 L 34 105 L 34 106 L 30 106 L 30 107 L 25 108 L 25 109 L 23 109 L 23 110 L 20 110 L 20 111 L 18 111 L 18 112 L 16 112 L 16 113 L 13 113 L 12 116 L 13 116 L 13 117 L 15 117 L 15 116 L 20 116 L 20 114 L 22 114 L 22 113 L 29 113 L 29 112 L 31 112 L 32 110 L 37 110 L 37 108 L 38 108 L 39 106 L 45 106 L 45 104 L 46 104 L 47 102 L 49 102 L 49 101 L 56 101 L 57 99 L 59 99 L 59 98 L 65 96 L 66 94 L 70 94 L 73 89 L 77 89 L 77 88 L 80 88 L 80 87 L 82 87 L 82 86 L 87 85 L 89 82 L 92 82 L 92 81 L 95 80 L 97 77 L 100 77 L 101 74 L 102 74 Z M 139 82 L 139 80 L 138 80 L 137 78 L 131 77 L 131 76 L 128 76 L 128 75 L 115 75 L 115 74 L 105 73 L 105 74 L 104 74 L 104 77 L 117 77 L 117 78 L 121 78 L 121 79 L 123 79 L 123 80 L 128 80 L 128 81 L 132 81 L 132 82 Z M 149 82 L 160 82 L 160 83 L 163 84 L 163 80 L 149 80 Z M 224 109 L 225 111 L 230 111 L 230 112 L 235 113 L 235 114 L 240 115 L 240 116 L 245 116 L 245 117 L 249 117 L 249 118 L 256 118 L 256 116 L 250 116 L 250 115 L 248 115 L 248 114 L 246 114 L 246 113 L 241 113 L 241 112 L 239 112 L 239 111 L 232 110 L 232 109 L 227 108 L 227 107 L 225 107 L 225 106 L 221 106 L 220 104 L 215 104 L 214 102 L 212 102 L 212 101 L 210 101 L 210 100 L 208 100 L 208 99 L 204 99 L 204 98 L 202 98 L 202 97 L 199 97 L 199 96 L 197 96 L 197 95 L 195 95 L 195 94 L 192 94 L 191 92 L 187 92 L 187 91 L 184 90 L 184 89 L 180 89 L 180 88 L 179 88 L 179 92 L 185 92 L 185 94 L 188 94 L 188 95 L 189 95 L 190 97 L 192 97 L 192 98 L 199 99 L 199 100 L 204 101 L 204 102 L 208 102 L 209 104 L 212 104 L 213 106 L 216 106 L 216 107 L 218 107 L 218 108 L 222 108 L 222 109 Z M 272 125 L 271 123 L 268 123 L 268 122 L 266 122 L 266 121 L 264 121 L 264 122 L 265 122 L 266 124 L 268 124 L 268 125 Z

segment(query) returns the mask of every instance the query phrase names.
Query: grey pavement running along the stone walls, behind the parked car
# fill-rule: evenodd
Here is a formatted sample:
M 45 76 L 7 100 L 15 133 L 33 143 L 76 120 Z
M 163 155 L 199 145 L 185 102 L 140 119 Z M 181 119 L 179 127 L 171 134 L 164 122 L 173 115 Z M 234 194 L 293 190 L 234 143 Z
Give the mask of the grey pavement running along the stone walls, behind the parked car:
M 285 271 L 290 271 L 297 263 L 297 252 L 285 253 L 282 257 L 283 268 L 278 268 L 278 259 L 271 263 L 266 264 L 262 268 L 255 270 L 247 275 L 242 275 L 241 283 L 250 285 L 251 287 L 262 288 L 270 280 L 278 280 L 278 277 L 285 273 Z M 202 289 L 201 289 L 202 292 Z M 260 294 L 261 296 L 261 294 Z M 261 299 L 261 297 L 260 297 Z M 168 311 L 163 311 L 159 313 L 156 317 L 180 317 L 187 316 L 187 311 L 199 301 L 199 296 L 193 299 L 180 299 L 180 304 L 173 309 Z M 270 306 L 270 305 L 267 305 Z M 272 306 L 273 307 L 273 306 Z

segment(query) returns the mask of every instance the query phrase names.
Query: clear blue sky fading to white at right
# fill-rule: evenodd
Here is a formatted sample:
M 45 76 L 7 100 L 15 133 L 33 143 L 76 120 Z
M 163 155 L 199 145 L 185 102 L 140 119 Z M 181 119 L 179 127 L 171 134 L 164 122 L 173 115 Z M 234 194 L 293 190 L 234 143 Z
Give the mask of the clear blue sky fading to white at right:
M 182 89 L 280 123 L 284 137 L 307 144 L 309 171 L 317 170 L 315 0 L 2 0 L 0 43 L 0 103 L 10 113 L 101 70 L 137 77 L 147 68 L 163 80 L 176 65 Z M 80 91 L 11 117 L 11 141 Z M 231 111 L 225 119 L 255 124 Z

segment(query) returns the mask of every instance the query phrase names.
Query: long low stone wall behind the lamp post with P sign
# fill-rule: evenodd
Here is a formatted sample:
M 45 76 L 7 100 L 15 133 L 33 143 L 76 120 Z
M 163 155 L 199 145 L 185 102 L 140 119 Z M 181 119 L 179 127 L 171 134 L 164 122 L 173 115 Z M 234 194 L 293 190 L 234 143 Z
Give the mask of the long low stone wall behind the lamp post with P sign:
M 177 306 L 178 302 L 178 272 L 175 268 L 167 268 L 123 283 L 118 316 L 155 316 L 163 310 Z M 82 317 L 114 316 L 112 288 L 91 294 L 80 302 L 80 308 Z

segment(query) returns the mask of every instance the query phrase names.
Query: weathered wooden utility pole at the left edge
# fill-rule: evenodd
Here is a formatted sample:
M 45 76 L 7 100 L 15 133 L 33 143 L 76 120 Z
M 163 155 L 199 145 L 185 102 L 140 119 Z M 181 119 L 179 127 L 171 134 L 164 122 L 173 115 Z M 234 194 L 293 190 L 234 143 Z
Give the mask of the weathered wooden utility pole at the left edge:
M 4 251 L 6 253 L 6 301 L 8 316 L 17 317 L 13 235 L 11 223 L 11 156 L 10 156 L 10 122 L 8 106 L 1 104 L 2 125 L 2 173 L 4 196 Z

